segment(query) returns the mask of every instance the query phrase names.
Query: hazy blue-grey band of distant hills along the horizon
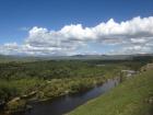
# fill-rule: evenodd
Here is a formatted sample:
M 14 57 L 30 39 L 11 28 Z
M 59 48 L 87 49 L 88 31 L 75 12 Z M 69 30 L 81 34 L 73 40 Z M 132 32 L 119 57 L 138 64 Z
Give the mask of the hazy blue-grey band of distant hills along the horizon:
M 33 56 L 10 56 L 0 55 L 0 62 L 9 61 L 38 61 L 38 60 L 61 60 L 61 59 L 101 59 L 101 60 L 143 60 L 153 59 L 153 54 L 136 54 L 136 55 L 73 55 L 73 56 L 47 56 L 47 57 L 33 57 Z

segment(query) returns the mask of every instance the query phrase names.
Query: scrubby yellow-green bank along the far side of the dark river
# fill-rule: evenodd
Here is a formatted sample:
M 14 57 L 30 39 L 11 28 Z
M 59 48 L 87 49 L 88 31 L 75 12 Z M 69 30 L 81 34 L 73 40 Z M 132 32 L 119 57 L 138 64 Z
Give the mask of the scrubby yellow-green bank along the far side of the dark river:
M 42 82 L 42 85 L 37 90 L 33 90 L 26 95 L 13 97 L 7 102 L 4 107 L 5 114 L 12 114 L 22 112 L 30 108 L 30 102 L 42 102 L 47 100 L 54 100 L 62 95 L 70 95 L 78 92 L 84 92 L 96 85 L 105 82 L 103 77 L 95 78 L 73 78 L 73 79 L 54 79 Z

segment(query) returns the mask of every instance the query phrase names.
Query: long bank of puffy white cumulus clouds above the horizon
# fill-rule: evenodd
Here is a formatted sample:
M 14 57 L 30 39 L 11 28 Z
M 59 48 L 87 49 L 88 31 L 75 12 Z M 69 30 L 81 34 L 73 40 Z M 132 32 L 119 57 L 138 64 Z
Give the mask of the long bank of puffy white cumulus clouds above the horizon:
M 104 44 L 121 47 L 117 49 L 120 54 L 151 53 L 153 49 L 153 16 L 137 16 L 120 23 L 110 19 L 93 27 L 71 24 L 59 31 L 34 26 L 28 31 L 28 36 L 22 45 L 4 44 L 0 46 L 0 53 L 72 55 L 91 42 L 102 44 L 103 49 L 105 49 Z

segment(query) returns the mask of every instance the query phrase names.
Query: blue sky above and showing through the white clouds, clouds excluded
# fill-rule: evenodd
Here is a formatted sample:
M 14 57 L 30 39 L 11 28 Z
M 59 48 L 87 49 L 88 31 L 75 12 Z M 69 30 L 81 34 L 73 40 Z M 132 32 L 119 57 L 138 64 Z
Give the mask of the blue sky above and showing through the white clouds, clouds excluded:
M 120 23 L 138 16 L 143 20 L 143 18 L 152 15 L 153 0 L 0 0 L 0 45 L 1 49 L 4 44 L 9 47 L 9 45 L 15 43 L 16 47 L 21 47 L 26 39 L 34 39 L 28 34 L 34 26 L 47 28 L 47 31 L 59 31 L 71 24 L 95 27 L 102 22 L 107 23 L 110 19 L 114 19 L 115 23 Z M 152 34 L 152 32 L 150 33 Z M 37 41 L 36 43 L 39 43 L 39 39 Z M 92 49 L 97 53 L 107 53 L 107 50 L 111 51 L 122 46 L 115 47 L 115 45 L 104 43 L 103 39 L 101 45 L 91 41 L 85 44 L 89 45 L 89 49 L 82 47 L 75 49 L 76 53 L 80 53 L 80 50 L 82 50 L 81 53 L 89 53 Z M 30 46 L 33 47 L 32 44 Z M 7 54 L 12 54 L 12 50 L 7 51 Z M 13 53 L 15 51 L 13 50 Z

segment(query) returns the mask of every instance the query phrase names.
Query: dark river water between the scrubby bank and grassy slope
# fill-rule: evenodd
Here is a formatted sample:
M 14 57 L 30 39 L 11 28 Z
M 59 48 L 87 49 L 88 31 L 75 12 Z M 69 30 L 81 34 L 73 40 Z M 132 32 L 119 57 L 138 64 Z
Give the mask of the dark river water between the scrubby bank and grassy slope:
M 104 84 L 95 87 L 86 92 L 73 95 L 64 95 L 51 101 L 33 103 L 33 110 L 15 115 L 63 115 L 74 110 L 75 107 L 84 104 L 85 102 L 109 91 L 118 83 L 118 79 L 107 80 L 107 82 L 105 82 Z

